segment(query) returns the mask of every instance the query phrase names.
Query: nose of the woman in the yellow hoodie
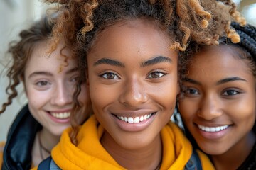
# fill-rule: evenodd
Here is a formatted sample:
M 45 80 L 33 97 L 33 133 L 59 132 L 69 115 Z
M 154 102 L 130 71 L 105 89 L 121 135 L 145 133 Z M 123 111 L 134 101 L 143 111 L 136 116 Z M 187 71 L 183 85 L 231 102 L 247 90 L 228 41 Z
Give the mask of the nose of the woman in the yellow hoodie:
M 137 107 L 148 100 L 146 88 L 143 82 L 133 78 L 125 82 L 119 101 L 127 106 Z

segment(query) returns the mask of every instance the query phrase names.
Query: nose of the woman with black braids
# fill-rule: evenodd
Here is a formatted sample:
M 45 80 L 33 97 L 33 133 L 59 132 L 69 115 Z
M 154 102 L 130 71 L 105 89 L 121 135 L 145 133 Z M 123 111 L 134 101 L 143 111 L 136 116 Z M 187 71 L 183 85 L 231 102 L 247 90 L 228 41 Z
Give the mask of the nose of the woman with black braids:
M 198 108 L 198 116 L 205 120 L 213 120 L 223 114 L 221 102 L 215 95 L 206 96 L 201 99 L 201 105 Z

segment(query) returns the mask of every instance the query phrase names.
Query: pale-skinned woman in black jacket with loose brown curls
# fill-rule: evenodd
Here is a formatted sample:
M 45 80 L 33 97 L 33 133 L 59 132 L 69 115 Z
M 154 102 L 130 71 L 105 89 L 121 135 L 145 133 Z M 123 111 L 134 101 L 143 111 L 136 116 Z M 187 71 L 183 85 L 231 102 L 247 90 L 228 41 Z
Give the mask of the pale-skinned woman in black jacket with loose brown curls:
M 0 144 L 2 170 L 38 166 L 50 156 L 61 133 L 70 126 L 78 63 L 61 42 L 53 52 L 48 52 L 47 42 L 55 24 L 52 19 L 43 16 L 30 28 L 21 30 L 20 39 L 9 45 L 11 59 L 6 87 L 9 98 L 2 104 L 0 114 L 6 113 L 6 107 L 18 96 L 18 84 L 23 85 L 28 103 L 16 115 L 6 142 Z M 89 97 L 85 83 L 82 86 L 79 101 L 85 106 Z M 76 119 L 82 123 L 85 114 L 77 115 Z

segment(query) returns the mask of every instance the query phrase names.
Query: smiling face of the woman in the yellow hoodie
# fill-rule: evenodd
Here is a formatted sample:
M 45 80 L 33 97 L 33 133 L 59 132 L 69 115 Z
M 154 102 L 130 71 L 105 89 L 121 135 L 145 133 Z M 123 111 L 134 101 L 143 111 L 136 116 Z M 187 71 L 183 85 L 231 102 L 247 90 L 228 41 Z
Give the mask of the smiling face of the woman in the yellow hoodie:
M 117 23 L 97 37 L 87 62 L 93 111 L 106 130 L 102 142 L 145 147 L 170 120 L 178 57 L 167 37 L 141 20 Z

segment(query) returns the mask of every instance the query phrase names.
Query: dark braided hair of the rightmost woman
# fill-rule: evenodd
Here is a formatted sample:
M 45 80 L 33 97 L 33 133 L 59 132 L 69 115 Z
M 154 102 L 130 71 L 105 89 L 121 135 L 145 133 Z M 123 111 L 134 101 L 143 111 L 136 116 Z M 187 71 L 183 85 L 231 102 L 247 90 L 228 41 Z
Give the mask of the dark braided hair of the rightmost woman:
M 233 50 L 236 53 L 234 56 L 245 61 L 256 79 L 256 28 L 255 26 L 251 26 L 249 24 L 247 24 L 245 27 L 241 27 L 238 23 L 232 23 L 231 26 L 235 28 L 236 33 L 240 35 L 240 42 L 233 43 L 228 38 L 223 37 L 220 38 L 219 45 L 228 45 L 228 47 L 233 47 Z M 197 52 L 205 50 L 207 47 L 207 45 L 198 45 L 196 42 L 191 42 L 188 47 L 188 52 L 180 52 L 180 55 L 186 57 L 186 60 L 188 60 L 189 63 L 190 60 L 193 60 L 193 55 L 195 55 Z M 180 74 L 181 84 L 182 80 L 186 79 L 186 72 L 186 69 L 183 69 L 183 74 Z M 181 89 L 181 96 L 178 97 L 178 100 L 182 100 L 182 94 L 185 94 L 186 87 L 181 86 Z M 176 116 L 177 115 L 178 114 L 176 114 Z M 180 123 L 178 121 L 182 121 L 178 120 L 177 117 L 174 118 L 174 120 L 176 120 L 176 123 Z M 191 141 L 193 147 L 199 148 L 196 140 L 193 138 L 193 135 L 191 135 L 191 132 L 189 132 L 188 128 L 186 128 L 186 125 L 183 125 L 183 127 L 186 137 L 188 137 L 188 139 Z M 256 134 L 256 125 L 253 126 L 252 131 Z M 249 162 L 249 164 L 251 168 L 254 167 L 252 169 L 255 169 L 255 162 Z M 247 169 L 247 167 L 245 168 L 241 166 L 240 169 Z

